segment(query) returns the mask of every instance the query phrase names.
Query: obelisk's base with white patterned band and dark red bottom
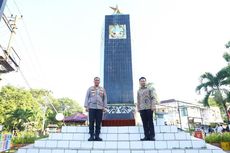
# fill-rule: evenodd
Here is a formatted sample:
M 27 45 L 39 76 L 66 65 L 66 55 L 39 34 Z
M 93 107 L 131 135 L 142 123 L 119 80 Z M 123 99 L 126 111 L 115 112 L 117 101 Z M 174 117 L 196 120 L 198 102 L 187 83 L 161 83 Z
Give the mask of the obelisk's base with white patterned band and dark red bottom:
M 102 126 L 135 126 L 135 105 L 109 105 Z

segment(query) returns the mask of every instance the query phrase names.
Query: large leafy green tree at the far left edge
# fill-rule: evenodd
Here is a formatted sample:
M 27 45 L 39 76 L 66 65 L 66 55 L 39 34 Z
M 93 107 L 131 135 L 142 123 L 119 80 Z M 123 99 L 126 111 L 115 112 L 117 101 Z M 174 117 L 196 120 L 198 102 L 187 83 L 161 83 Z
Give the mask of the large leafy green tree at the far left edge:
M 23 124 L 29 121 L 40 122 L 41 109 L 32 94 L 24 88 L 2 87 L 0 91 L 1 124 L 5 129 L 24 130 Z M 39 127 L 37 127 L 39 128 Z

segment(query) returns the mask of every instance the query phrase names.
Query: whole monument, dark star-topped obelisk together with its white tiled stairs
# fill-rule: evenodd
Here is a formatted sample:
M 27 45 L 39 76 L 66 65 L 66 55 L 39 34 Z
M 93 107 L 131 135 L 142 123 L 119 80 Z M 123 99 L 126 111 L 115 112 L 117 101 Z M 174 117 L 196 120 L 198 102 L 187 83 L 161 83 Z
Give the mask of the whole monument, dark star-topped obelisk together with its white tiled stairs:
M 61 132 L 21 147 L 18 153 L 224 153 L 204 140 L 190 136 L 175 125 L 155 123 L 156 141 L 140 141 L 142 126 L 133 125 L 133 84 L 129 16 L 115 8 L 105 17 L 104 85 L 109 112 L 104 116 L 103 142 L 88 142 L 88 126 L 63 126 Z M 129 122 L 131 121 L 131 122 Z

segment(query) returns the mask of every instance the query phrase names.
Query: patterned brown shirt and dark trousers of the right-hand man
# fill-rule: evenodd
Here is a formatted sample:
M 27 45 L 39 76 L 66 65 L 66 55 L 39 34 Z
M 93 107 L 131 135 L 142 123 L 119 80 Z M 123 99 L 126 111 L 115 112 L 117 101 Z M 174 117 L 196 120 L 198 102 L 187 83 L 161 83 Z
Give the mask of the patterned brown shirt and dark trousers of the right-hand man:
M 156 98 L 153 91 L 147 87 L 141 87 L 137 92 L 137 110 L 140 112 L 144 127 L 145 137 L 142 140 L 154 140 L 155 131 L 153 125 L 153 111 Z

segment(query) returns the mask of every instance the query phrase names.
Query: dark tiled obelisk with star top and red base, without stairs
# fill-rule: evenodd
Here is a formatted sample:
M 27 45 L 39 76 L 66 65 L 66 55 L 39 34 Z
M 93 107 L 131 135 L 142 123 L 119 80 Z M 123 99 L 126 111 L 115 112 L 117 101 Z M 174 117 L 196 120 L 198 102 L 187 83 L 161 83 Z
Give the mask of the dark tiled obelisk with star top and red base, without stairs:
M 103 125 L 135 125 L 129 15 L 111 8 L 114 14 L 105 16 L 104 28 L 103 73 L 109 110 Z

